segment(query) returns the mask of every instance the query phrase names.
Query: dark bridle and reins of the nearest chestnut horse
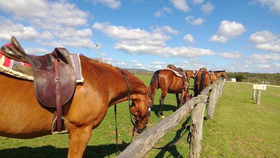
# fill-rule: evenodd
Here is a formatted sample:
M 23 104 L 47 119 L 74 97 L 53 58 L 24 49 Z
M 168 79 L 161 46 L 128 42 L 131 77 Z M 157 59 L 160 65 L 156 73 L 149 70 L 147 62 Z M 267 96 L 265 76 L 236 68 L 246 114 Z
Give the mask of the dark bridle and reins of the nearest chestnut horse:
M 124 74 L 124 71 L 121 69 L 122 73 Z M 148 111 L 148 116 L 147 116 L 147 121 L 145 122 L 144 126 L 142 128 L 138 128 L 138 120 L 141 120 L 143 119 L 146 115 L 143 115 L 141 118 L 139 119 L 136 119 L 134 117 L 131 117 L 132 113 L 131 113 L 131 106 L 130 106 L 130 90 L 129 90 L 129 83 L 128 83 L 128 79 L 126 77 L 126 75 L 124 74 L 124 79 L 127 83 L 127 87 L 128 87 L 128 95 L 127 95 L 127 98 L 128 98 L 128 107 L 129 107 L 129 114 L 130 114 L 130 120 L 131 120 L 131 123 L 133 124 L 134 128 L 133 128 L 133 133 L 132 133 L 132 139 L 133 139 L 133 136 L 134 136 L 134 132 L 135 130 L 136 131 L 141 131 L 143 130 L 145 127 L 147 127 L 147 124 L 148 124 L 148 120 L 149 120 L 149 116 L 150 116 L 150 112 L 151 112 L 151 107 L 152 107 L 152 101 L 151 101 L 151 97 L 152 97 L 152 94 L 150 92 L 150 89 L 147 87 L 148 89 L 148 105 L 147 105 L 147 110 L 146 110 L 146 113 Z M 115 124 L 116 124 L 116 143 L 117 143 L 117 151 L 119 153 L 119 147 L 118 147 L 118 130 L 117 130 L 117 104 L 115 104 L 114 106 L 114 111 L 115 111 Z M 132 121 L 132 118 L 135 120 L 136 124 Z M 132 142 L 132 139 L 131 139 L 131 142 Z

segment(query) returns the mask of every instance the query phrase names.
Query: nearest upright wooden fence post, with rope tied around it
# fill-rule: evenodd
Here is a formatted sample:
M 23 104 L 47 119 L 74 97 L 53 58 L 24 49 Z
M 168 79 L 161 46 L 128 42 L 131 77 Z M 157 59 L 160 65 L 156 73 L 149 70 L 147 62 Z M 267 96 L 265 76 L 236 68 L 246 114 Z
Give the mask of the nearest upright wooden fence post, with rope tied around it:
M 191 112 L 189 158 L 199 158 L 202 147 L 202 127 L 207 95 L 198 95 L 198 104 Z M 200 103 L 199 103 L 200 102 Z

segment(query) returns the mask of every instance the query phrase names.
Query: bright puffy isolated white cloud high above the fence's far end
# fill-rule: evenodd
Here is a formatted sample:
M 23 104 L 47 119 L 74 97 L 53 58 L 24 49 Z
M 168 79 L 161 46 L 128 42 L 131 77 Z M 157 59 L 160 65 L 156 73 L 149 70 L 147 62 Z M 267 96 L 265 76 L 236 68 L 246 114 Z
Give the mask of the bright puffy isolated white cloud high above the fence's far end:
M 226 43 L 229 38 L 236 38 L 245 31 L 246 28 L 241 23 L 224 20 L 221 22 L 217 34 L 213 35 L 209 41 Z

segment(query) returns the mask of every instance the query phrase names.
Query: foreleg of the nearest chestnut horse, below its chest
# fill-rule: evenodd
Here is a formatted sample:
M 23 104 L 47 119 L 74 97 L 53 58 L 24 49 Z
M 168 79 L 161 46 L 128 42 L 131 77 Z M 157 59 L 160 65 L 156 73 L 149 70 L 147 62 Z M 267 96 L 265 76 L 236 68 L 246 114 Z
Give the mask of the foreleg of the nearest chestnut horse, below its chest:
M 70 157 L 83 157 L 86 145 L 91 137 L 91 126 L 77 127 L 75 125 L 69 126 L 69 150 L 68 158 Z

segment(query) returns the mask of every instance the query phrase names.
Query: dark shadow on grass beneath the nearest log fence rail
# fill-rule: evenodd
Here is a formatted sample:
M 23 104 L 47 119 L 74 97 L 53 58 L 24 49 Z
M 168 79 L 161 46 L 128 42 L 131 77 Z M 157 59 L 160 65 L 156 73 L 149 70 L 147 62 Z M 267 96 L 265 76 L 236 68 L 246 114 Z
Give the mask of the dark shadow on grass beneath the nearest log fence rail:
M 180 156 L 180 152 L 177 150 L 175 144 L 170 146 L 172 143 L 174 143 L 175 141 L 177 141 L 180 136 L 185 132 L 186 130 L 186 126 L 189 125 L 190 123 L 190 120 L 191 120 L 191 116 L 187 117 L 187 119 L 185 120 L 185 122 L 182 123 L 182 127 L 176 132 L 176 135 L 175 137 L 173 138 L 172 141 L 170 141 L 164 148 L 164 149 L 159 149 L 161 150 L 155 158 L 162 158 L 162 157 L 170 157 L 172 155 L 172 157 L 179 157 Z M 188 132 L 185 133 L 184 135 L 184 140 L 186 140 L 188 137 Z M 168 147 L 170 146 L 170 147 Z M 166 152 L 169 152 L 170 154 L 168 156 L 165 156 L 164 154 Z

